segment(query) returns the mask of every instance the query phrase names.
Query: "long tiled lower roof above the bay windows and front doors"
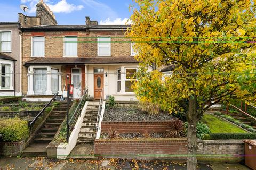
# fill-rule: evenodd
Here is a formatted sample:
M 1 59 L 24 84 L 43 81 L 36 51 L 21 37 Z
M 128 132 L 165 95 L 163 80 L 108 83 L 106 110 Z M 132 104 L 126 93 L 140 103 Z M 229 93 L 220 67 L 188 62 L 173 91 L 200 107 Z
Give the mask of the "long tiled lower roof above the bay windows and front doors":
M 134 57 L 42 57 L 35 58 L 33 60 L 25 62 L 24 66 L 29 65 L 42 65 L 42 64 L 52 64 L 52 65 L 74 65 L 74 64 L 138 64 L 139 62 L 134 59 Z

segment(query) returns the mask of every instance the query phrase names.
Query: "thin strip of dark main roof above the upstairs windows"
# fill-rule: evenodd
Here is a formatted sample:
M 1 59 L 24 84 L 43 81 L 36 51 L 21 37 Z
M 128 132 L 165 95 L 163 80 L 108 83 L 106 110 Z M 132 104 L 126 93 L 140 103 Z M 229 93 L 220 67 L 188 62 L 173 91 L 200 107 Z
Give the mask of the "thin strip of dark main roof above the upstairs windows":
M 85 31 L 86 29 L 127 29 L 129 25 L 40 25 L 20 28 L 22 31 Z

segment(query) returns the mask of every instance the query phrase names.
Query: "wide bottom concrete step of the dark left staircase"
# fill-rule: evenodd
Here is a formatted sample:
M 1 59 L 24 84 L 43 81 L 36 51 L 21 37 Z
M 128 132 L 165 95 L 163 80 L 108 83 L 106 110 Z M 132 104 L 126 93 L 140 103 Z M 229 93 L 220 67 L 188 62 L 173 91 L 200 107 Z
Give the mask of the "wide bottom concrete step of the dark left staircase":
M 31 143 L 25 150 L 22 156 L 25 157 L 46 157 L 46 147 L 48 143 Z

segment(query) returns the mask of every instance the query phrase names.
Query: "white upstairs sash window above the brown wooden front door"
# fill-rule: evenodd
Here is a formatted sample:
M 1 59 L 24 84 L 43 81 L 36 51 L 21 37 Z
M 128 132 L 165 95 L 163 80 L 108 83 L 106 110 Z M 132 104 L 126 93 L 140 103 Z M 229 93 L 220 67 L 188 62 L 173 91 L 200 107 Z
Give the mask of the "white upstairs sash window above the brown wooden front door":
M 109 36 L 98 37 L 98 56 L 111 55 L 111 38 Z

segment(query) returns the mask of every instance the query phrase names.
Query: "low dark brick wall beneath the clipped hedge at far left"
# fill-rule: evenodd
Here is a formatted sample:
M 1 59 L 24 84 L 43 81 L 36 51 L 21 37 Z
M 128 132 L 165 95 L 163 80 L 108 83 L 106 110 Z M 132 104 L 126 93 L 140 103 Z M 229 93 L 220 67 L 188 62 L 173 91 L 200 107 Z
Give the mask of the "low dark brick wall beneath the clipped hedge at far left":
M 17 156 L 24 149 L 24 141 L 0 142 L 0 155 Z

